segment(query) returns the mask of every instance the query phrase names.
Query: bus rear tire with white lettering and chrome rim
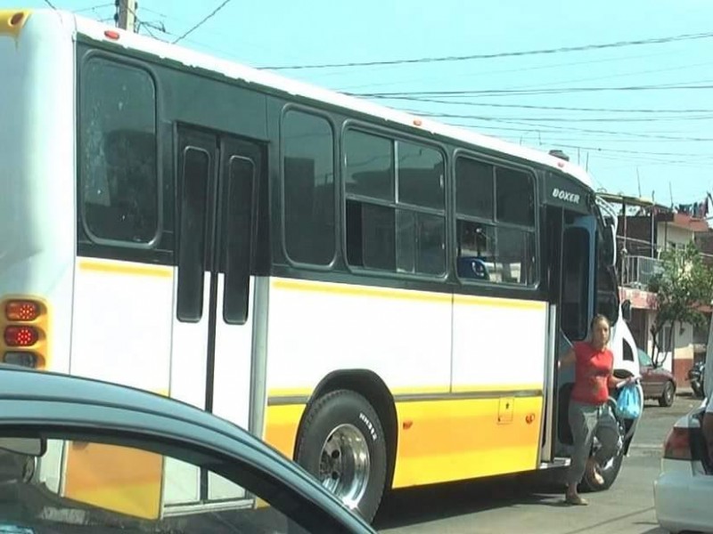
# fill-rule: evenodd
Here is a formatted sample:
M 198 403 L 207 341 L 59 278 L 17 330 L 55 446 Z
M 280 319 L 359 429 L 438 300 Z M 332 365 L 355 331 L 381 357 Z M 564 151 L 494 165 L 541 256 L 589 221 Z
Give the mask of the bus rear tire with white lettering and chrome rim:
M 345 506 L 372 522 L 386 485 L 386 441 L 362 395 L 337 390 L 318 398 L 307 411 L 295 457 Z

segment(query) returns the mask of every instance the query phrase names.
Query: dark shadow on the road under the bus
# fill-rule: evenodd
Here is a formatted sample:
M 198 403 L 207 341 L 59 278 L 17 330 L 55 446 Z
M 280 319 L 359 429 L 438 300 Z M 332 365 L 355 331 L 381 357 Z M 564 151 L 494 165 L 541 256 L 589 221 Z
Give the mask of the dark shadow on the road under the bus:
M 374 527 L 403 528 L 514 505 L 569 507 L 563 491 L 563 486 L 529 474 L 396 490 L 384 498 Z

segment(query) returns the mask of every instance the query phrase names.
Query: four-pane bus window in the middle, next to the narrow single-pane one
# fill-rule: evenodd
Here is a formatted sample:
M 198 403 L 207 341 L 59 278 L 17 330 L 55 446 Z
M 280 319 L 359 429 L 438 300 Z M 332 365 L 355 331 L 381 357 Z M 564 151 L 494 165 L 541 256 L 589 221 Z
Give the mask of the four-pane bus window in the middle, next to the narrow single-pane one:
M 349 130 L 347 260 L 365 269 L 446 271 L 446 171 L 438 150 Z

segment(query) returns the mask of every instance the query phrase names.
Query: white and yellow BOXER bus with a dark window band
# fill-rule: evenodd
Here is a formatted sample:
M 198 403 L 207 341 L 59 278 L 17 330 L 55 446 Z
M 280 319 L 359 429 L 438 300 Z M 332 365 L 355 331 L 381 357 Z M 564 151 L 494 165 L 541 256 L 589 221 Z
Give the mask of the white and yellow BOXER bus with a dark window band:
M 0 73 L 6 363 L 208 410 L 370 519 L 567 465 L 557 360 L 594 313 L 638 373 L 611 219 L 562 158 L 68 12 L 1 11 Z M 41 470 L 68 495 L 70 452 Z M 181 469 L 157 514 L 249 497 Z

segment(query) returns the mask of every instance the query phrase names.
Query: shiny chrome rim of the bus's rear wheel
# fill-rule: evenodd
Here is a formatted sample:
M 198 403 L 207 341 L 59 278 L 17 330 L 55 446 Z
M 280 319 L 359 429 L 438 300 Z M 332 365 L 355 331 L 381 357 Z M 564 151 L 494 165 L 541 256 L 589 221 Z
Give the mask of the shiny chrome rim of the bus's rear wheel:
M 319 480 L 349 508 L 356 508 L 369 482 L 371 457 L 366 438 L 354 425 L 340 425 L 322 446 Z

